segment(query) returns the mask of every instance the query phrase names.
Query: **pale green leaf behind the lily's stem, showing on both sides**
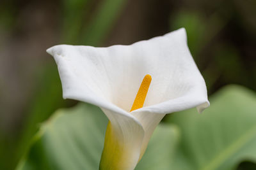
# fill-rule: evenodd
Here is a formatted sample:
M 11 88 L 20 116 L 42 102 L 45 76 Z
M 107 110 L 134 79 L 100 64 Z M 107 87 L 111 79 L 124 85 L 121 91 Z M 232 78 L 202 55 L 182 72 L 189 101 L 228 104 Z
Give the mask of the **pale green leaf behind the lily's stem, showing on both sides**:
M 89 104 L 58 110 L 42 126 L 18 170 L 99 169 L 108 118 Z M 145 156 L 136 169 L 168 169 L 179 131 L 174 125 L 159 125 Z M 163 158 L 164 157 L 164 158 Z

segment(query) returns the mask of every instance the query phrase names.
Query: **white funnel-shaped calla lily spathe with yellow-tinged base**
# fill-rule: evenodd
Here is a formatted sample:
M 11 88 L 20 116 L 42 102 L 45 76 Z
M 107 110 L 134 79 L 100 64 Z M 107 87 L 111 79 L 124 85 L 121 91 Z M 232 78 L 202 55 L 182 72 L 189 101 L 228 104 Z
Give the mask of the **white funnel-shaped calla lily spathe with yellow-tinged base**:
M 109 119 L 100 169 L 134 169 L 166 113 L 209 106 L 185 29 L 132 45 L 56 45 L 47 52 L 58 65 L 63 98 L 99 106 Z M 147 74 L 143 107 L 131 111 Z

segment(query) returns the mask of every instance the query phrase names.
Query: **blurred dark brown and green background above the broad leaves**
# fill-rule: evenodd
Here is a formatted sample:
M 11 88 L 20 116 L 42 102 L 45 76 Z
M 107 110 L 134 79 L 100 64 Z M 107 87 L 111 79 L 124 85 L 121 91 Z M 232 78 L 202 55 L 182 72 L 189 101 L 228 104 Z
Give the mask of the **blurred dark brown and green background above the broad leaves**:
M 185 27 L 209 95 L 256 90 L 255 0 L 1 0 L 0 169 L 13 169 L 63 100 L 52 45 L 129 45 Z

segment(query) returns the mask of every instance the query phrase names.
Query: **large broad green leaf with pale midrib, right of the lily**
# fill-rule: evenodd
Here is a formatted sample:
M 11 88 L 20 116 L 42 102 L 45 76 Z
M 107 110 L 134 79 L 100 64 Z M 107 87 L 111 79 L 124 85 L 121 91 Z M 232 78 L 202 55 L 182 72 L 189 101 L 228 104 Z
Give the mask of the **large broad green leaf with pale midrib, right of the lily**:
M 172 169 L 235 169 L 256 162 L 256 95 L 236 85 L 211 97 L 202 114 L 195 109 L 166 118 L 180 127 L 181 142 Z

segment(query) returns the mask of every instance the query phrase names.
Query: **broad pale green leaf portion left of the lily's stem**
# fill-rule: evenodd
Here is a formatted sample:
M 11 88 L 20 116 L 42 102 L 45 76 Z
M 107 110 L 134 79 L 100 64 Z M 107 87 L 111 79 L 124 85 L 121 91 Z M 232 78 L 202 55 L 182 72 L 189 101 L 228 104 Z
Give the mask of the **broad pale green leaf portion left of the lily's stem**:
M 107 123 L 100 109 L 88 104 L 56 111 L 17 169 L 99 169 Z

